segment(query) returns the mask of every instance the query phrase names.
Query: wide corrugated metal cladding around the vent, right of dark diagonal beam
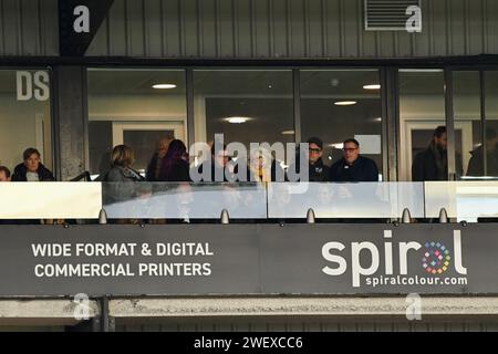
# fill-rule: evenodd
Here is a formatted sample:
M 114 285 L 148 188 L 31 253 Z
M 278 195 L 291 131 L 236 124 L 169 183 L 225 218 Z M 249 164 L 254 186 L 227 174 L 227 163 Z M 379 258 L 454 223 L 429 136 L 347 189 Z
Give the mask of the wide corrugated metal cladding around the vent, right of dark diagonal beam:
M 363 0 L 115 0 L 87 55 L 409 58 L 498 53 L 497 0 L 423 0 L 423 32 L 364 30 Z

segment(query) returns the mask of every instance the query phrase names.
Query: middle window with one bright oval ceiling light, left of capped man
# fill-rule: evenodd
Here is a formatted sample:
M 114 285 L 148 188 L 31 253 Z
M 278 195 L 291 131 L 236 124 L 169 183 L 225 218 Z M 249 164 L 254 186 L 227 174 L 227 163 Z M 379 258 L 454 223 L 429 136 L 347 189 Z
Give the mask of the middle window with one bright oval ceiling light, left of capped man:
M 197 142 L 294 142 L 290 70 L 196 70 L 194 100 Z

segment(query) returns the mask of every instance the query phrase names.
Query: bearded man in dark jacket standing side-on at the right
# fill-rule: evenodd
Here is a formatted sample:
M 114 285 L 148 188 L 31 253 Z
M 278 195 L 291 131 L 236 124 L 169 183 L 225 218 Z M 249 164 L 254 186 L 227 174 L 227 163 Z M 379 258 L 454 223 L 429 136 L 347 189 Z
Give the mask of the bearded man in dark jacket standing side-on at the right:
M 414 158 L 413 181 L 448 180 L 447 143 L 446 127 L 438 126 L 434 131 L 429 146 Z

